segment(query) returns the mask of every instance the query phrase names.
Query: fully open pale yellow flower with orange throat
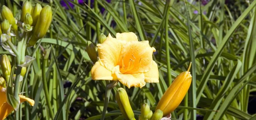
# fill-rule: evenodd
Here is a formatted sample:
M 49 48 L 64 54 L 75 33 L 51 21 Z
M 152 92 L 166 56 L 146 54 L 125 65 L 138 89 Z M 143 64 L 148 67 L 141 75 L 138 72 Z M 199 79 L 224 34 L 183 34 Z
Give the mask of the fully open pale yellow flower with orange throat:
M 118 80 L 130 87 L 145 86 L 146 82 L 159 82 L 158 66 L 153 61 L 154 47 L 148 41 L 138 41 L 133 32 L 110 34 L 98 46 L 97 61 L 92 67 L 93 80 Z

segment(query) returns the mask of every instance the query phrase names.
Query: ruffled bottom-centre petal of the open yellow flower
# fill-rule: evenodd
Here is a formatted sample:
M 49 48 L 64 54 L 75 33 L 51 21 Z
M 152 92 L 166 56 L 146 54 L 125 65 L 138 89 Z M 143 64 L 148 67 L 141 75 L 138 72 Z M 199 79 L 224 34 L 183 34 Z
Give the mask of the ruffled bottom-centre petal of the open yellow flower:
M 128 88 L 133 86 L 142 88 L 146 84 L 144 73 L 122 74 L 120 73 L 119 68 L 116 68 L 114 73 L 116 74 L 118 81 Z

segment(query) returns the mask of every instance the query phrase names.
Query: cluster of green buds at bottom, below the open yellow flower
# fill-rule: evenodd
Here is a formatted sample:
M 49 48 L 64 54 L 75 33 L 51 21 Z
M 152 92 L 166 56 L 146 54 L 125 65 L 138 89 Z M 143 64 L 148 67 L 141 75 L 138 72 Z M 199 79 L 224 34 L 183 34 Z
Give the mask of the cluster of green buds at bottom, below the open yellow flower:
M 135 120 L 133 109 L 130 105 L 128 95 L 124 88 L 117 89 L 116 100 L 124 118 L 126 120 Z M 161 120 L 162 117 L 163 112 L 161 110 L 156 110 L 155 113 L 153 114 L 148 104 L 144 103 L 142 105 L 139 120 Z

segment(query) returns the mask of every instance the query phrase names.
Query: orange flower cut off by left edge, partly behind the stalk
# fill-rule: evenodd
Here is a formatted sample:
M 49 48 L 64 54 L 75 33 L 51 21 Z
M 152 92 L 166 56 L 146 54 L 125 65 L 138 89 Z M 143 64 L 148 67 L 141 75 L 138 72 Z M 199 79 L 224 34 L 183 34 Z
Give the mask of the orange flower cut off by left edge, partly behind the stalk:
M 5 119 L 14 109 L 7 103 L 6 89 L 0 87 L 0 120 Z M 35 104 L 35 101 L 20 95 L 20 103 L 28 101 L 31 106 Z

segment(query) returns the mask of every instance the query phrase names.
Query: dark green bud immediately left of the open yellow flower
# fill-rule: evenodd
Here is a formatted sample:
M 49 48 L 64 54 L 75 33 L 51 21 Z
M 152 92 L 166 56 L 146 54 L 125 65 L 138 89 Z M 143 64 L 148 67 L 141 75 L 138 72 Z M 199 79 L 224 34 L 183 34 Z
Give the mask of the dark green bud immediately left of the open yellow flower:
M 91 41 L 87 41 L 86 50 L 87 50 L 87 53 L 88 53 L 91 61 L 93 63 L 97 62 L 98 61 L 97 52 L 96 52 L 95 46 L 93 45 L 93 43 Z

